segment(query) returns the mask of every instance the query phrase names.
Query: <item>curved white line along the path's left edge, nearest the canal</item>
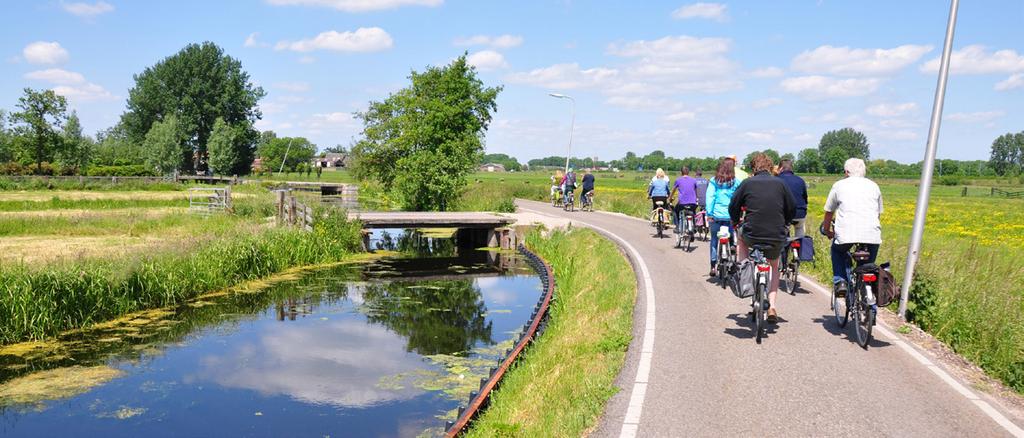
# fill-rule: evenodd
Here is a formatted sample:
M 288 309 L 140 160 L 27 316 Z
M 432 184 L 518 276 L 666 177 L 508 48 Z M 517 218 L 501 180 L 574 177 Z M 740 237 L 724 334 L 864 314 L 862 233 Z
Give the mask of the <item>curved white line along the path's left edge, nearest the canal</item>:
M 522 207 L 520 207 L 520 209 L 543 216 L 551 216 L 537 210 L 530 210 Z M 647 269 L 647 263 L 643 261 L 643 257 L 640 257 L 640 252 L 638 252 L 636 248 L 633 248 L 629 242 L 626 242 L 625 238 L 620 237 L 615 233 L 597 225 L 587 223 L 585 221 L 577 222 L 593 228 L 613 240 L 617 240 L 618 246 L 626 249 L 626 251 L 630 253 L 630 256 L 640 268 L 640 274 L 643 278 L 644 298 L 646 299 L 646 306 L 644 308 L 645 315 L 642 335 L 643 339 L 640 342 L 640 345 L 643 347 L 640 350 L 640 363 L 637 365 L 637 376 L 633 380 L 633 390 L 630 393 L 629 407 L 626 409 L 626 418 L 623 419 L 623 429 L 618 434 L 620 438 L 632 438 L 637 435 L 637 431 L 640 429 L 640 415 L 643 412 L 643 402 L 647 394 L 647 381 L 650 377 L 650 363 L 654 358 L 654 284 L 650 278 L 650 270 Z

